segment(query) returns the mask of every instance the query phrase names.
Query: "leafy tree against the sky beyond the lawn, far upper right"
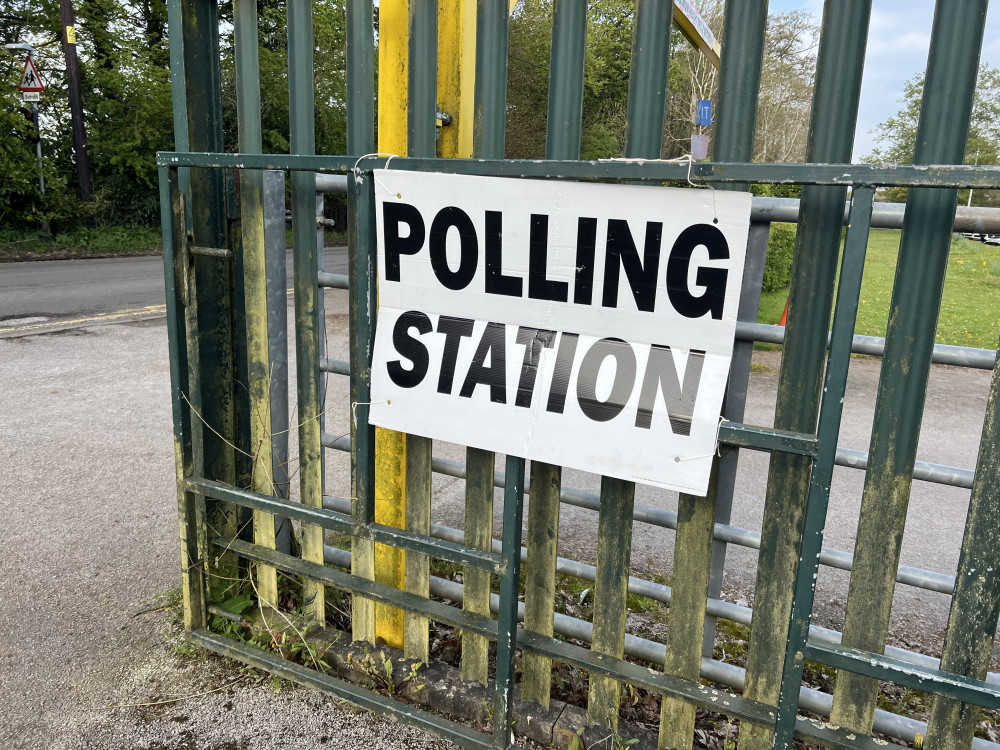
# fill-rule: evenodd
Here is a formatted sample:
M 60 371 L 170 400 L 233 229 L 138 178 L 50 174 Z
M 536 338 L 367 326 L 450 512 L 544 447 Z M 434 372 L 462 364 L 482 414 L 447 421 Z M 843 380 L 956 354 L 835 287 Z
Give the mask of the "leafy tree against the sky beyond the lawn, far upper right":
M 903 105 L 900 110 L 879 123 L 875 129 L 876 148 L 864 157 L 870 163 L 913 163 L 917 140 L 917 122 L 924 94 L 924 74 L 914 76 L 903 85 Z M 969 140 L 965 148 L 966 164 L 1000 164 L 1000 68 L 981 65 L 969 121 Z M 892 201 L 906 199 L 905 188 L 886 189 Z M 973 191 L 976 206 L 1000 206 L 998 191 Z M 968 201 L 969 191 L 959 193 L 959 202 Z

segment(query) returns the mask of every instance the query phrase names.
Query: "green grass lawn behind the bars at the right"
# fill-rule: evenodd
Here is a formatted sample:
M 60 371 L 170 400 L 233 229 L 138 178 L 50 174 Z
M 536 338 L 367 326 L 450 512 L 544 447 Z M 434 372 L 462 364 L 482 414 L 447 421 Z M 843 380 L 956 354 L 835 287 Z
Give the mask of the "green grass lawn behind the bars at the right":
M 885 336 L 899 252 L 898 229 L 873 229 L 865 257 L 856 332 Z M 758 320 L 777 323 L 788 291 L 764 294 Z M 996 349 L 1000 334 L 1000 248 L 953 235 L 937 342 Z

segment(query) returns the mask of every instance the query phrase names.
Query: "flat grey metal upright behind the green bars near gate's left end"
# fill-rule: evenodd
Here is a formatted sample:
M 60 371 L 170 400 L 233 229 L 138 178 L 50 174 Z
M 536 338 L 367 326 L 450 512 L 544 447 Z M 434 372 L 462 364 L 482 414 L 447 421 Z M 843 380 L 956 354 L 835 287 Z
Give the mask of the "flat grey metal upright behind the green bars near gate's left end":
M 289 498 L 288 470 L 288 279 L 285 251 L 285 173 L 264 173 L 264 257 L 267 263 L 267 342 L 271 383 L 271 482 Z M 291 550 L 291 522 L 275 518 L 275 545 Z

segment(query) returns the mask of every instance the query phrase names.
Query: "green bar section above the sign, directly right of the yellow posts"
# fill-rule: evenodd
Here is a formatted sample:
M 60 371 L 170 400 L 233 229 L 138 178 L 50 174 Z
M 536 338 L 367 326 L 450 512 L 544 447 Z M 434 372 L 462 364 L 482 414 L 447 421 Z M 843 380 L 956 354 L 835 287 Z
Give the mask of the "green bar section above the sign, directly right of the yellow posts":
M 472 148 L 479 158 L 502 159 L 507 125 L 507 0 L 476 6 L 476 98 Z

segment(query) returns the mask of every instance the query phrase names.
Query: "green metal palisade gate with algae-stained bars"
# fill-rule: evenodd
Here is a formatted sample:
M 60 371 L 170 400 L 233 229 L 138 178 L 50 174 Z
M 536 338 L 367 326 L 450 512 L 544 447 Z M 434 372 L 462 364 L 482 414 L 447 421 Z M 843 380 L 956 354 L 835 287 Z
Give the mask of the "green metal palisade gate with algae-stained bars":
M 661 746 L 691 745 L 696 707 L 742 721 L 740 743 L 745 747 L 790 747 L 793 737 L 824 746 L 875 747 L 884 741 L 871 736 L 873 722 L 878 731 L 912 738 L 912 723 L 878 724 L 877 680 L 885 680 L 938 696 L 926 730 L 933 747 L 970 747 L 973 707 L 1000 708 L 1000 687 L 986 679 L 1000 610 L 1000 559 L 992 541 L 1000 516 L 1000 404 L 996 401 L 1000 377 L 996 374 L 975 479 L 971 475 L 951 478 L 956 483 L 968 481 L 972 502 L 943 658 L 939 665 L 926 659 L 908 661 L 887 651 L 885 641 L 893 587 L 897 580 L 912 577 L 912 571 L 898 570 L 910 483 L 914 477 L 942 481 L 934 474 L 940 467 L 917 466 L 915 472 L 930 364 L 948 356 L 965 360 L 983 356 L 935 348 L 938 307 L 928 302 L 941 298 L 957 189 L 1000 188 L 997 168 L 948 166 L 960 164 L 964 156 L 985 0 L 938 3 L 915 155 L 918 165 L 934 166 L 846 163 L 855 129 L 870 4 L 833 0 L 824 11 L 808 164 L 749 163 L 766 0 L 727 3 L 714 161 L 693 165 L 659 159 L 670 3 L 636 3 L 625 158 L 588 162 L 578 160 L 587 4 L 556 0 L 547 158 L 518 161 L 503 158 L 509 3 L 479 0 L 472 115 L 476 158 L 436 158 L 437 34 L 439 24 L 449 19 L 446 14 L 439 17 L 438 0 L 409 2 L 409 156 L 392 158 L 393 168 L 606 182 L 662 183 L 690 177 L 719 189 L 745 189 L 749 183 L 802 185 L 775 427 L 744 424 L 742 417 L 752 341 L 775 336 L 772 329 L 755 324 L 753 290 L 759 289 L 766 229 L 776 210 L 774 203 L 762 201 L 755 204 L 753 213 L 751 262 L 745 279 L 750 292 L 744 294 L 749 302 L 740 311 L 744 323 L 738 332 L 725 410 L 728 421 L 720 431 L 722 457 L 715 480 L 708 498 L 682 495 L 676 516 L 664 522 L 673 523 L 677 530 L 675 571 L 682 575 L 675 575 L 672 591 L 666 594 L 671 601 L 671 627 L 666 643 L 656 652 L 662 655 L 662 671 L 625 658 L 625 595 L 636 585 L 630 584 L 628 576 L 632 522 L 633 518 L 651 520 L 649 513 L 643 515 L 635 507 L 634 487 L 628 483 L 605 479 L 600 497 L 595 498 L 562 488 L 557 467 L 532 466 L 523 628 L 517 626 L 527 485 L 522 458 L 508 456 L 506 472 L 495 476 L 491 454 L 470 450 L 467 465 L 455 466 L 434 459 L 429 441 L 408 439 L 406 528 L 377 522 L 376 437 L 368 424 L 377 317 L 372 170 L 385 167 L 389 157 L 373 155 L 377 150 L 373 7 L 370 0 L 345 2 L 348 153 L 314 155 L 311 4 L 288 0 L 287 6 L 289 155 L 261 153 L 256 3 L 236 0 L 234 4 L 236 154 L 223 153 L 217 3 L 170 0 L 168 6 L 177 150 L 160 154 L 158 164 L 185 627 L 190 637 L 207 648 L 391 714 L 466 747 L 511 744 L 514 657 L 519 649 L 525 653 L 525 700 L 548 703 L 552 660 L 588 671 L 592 675 L 588 711 L 593 723 L 613 727 L 617 722 L 620 682 L 664 696 Z M 269 334 L 265 170 L 291 176 L 299 503 L 275 497 L 274 365 L 269 355 L 274 329 Z M 326 179 L 322 175 L 347 178 L 346 276 L 319 270 L 316 195 L 318 180 Z M 859 461 L 857 456 L 838 453 L 837 436 L 852 347 L 866 344 L 856 341 L 853 334 L 875 190 L 882 186 L 911 190 L 902 220 L 889 328 L 885 341 L 876 346 L 883 367 L 871 450 Z M 842 241 L 845 199 L 847 230 Z M 349 363 L 324 356 L 321 299 L 327 287 L 349 290 Z M 273 303 L 271 307 L 273 311 Z M 987 359 L 992 358 L 987 355 Z M 350 436 L 324 432 L 323 378 L 327 374 L 350 376 Z M 348 498 L 324 495 L 325 449 L 350 452 Z M 719 543 L 737 541 L 739 536 L 728 525 L 726 506 L 740 450 L 769 452 L 771 461 L 763 530 L 757 542 L 760 564 L 745 685 L 741 694 L 731 694 L 705 686 L 700 677 L 726 682 L 718 670 L 712 671 L 711 660 L 703 660 L 706 614 L 709 632 L 715 617 L 742 616 L 734 614 L 733 605 L 719 602 L 717 582 L 709 580 L 713 539 L 718 557 Z M 843 643 L 836 644 L 827 638 L 810 638 L 809 623 L 819 565 L 831 559 L 822 540 L 833 467 L 852 461 L 866 467 L 867 474 L 858 544 L 853 562 L 846 563 L 853 566 L 853 572 Z M 432 470 L 464 474 L 467 479 L 467 509 L 473 515 L 467 516 L 464 539 L 430 533 Z M 492 517 L 495 483 L 504 488 L 499 551 L 492 547 L 491 525 L 485 525 L 485 534 L 481 531 L 484 519 Z M 593 507 L 595 500 L 599 538 L 605 540 L 592 572 L 595 611 L 601 617 L 595 617 L 589 633 L 591 648 L 584 648 L 553 635 L 551 580 L 557 566 L 565 567 L 566 561 L 557 559 L 554 540 L 547 540 L 542 532 L 557 526 L 561 501 Z M 300 524 L 298 554 L 276 539 L 275 519 Z M 325 546 L 324 531 L 350 536 L 349 573 L 338 567 L 344 563 L 343 556 Z M 608 545 L 608 539 L 620 543 Z M 376 582 L 376 543 L 408 553 L 406 590 Z M 463 608 L 429 596 L 429 557 L 462 566 L 469 573 Z M 250 564 L 253 574 L 247 575 Z M 325 622 L 326 587 L 352 594 L 355 640 L 375 642 L 376 603 L 408 613 L 408 655 L 426 653 L 428 619 L 460 628 L 468 638 L 470 655 L 464 676 L 472 679 L 486 681 L 485 643 L 495 640 L 492 736 L 209 628 L 211 617 L 228 616 L 219 606 L 219 597 L 232 594 L 227 587 L 234 579 L 252 585 L 252 599 L 265 616 L 282 617 L 278 571 L 301 583 L 305 621 L 313 626 Z M 495 619 L 490 616 L 491 577 L 500 581 Z M 807 660 L 840 670 L 832 710 L 829 704 L 824 704 L 824 710 L 802 690 Z M 802 717 L 800 707 L 827 714 L 829 721 Z

